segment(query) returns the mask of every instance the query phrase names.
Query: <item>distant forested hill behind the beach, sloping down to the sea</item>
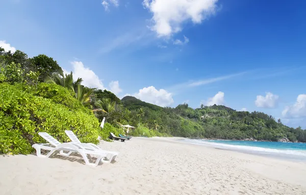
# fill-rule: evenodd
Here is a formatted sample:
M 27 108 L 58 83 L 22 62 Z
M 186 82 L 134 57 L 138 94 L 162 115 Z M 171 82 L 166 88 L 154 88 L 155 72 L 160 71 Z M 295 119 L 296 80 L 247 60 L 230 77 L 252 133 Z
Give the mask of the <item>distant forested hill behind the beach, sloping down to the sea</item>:
M 180 104 L 175 108 L 160 107 L 132 96 L 122 98 L 124 107 L 132 112 L 143 112 L 141 122 L 174 136 L 193 138 L 221 138 L 228 140 L 265 140 L 306 142 L 306 131 L 290 128 L 261 112 L 237 112 L 223 106 L 190 108 Z

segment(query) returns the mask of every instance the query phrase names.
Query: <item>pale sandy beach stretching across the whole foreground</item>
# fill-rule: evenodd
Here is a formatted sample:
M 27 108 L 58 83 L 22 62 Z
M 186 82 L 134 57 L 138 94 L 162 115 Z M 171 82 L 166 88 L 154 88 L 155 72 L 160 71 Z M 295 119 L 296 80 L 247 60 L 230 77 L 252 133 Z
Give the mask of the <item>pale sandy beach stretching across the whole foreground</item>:
M 0 194 L 306 194 L 306 163 L 133 137 L 96 168 L 80 158 L 0 157 Z

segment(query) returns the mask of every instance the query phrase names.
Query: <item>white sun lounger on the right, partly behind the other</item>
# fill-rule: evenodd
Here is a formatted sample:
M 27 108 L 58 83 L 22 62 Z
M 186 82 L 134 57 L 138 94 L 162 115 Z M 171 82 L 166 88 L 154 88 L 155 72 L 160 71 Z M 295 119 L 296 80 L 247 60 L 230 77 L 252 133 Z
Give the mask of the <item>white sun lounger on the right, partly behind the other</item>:
M 116 156 L 119 154 L 119 152 L 102 150 L 100 147 L 98 147 L 97 145 L 92 144 L 92 143 L 82 143 L 79 140 L 79 138 L 77 137 L 77 135 L 75 135 L 73 133 L 73 131 L 65 130 L 65 133 L 70 138 L 72 143 L 79 144 L 79 145 L 81 145 L 82 147 L 84 147 L 86 149 L 90 149 L 90 150 L 94 150 L 94 151 L 99 151 L 99 152 L 107 153 L 108 154 L 108 157 L 107 157 L 108 161 L 104 161 L 104 162 L 112 162 L 113 160 L 115 160 Z

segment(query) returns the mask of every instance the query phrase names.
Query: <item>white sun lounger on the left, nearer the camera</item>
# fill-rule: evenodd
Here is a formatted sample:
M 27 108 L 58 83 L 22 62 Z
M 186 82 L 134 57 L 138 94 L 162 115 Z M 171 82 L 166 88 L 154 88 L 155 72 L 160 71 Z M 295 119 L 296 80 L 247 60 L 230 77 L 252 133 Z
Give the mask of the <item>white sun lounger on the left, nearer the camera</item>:
M 39 132 L 38 134 L 49 143 L 49 144 L 33 144 L 32 147 L 35 148 L 36 155 L 38 157 L 48 158 L 53 153 L 55 154 L 60 153 L 60 155 L 62 156 L 69 156 L 72 152 L 77 152 L 81 154 L 85 163 L 91 166 L 97 166 L 99 164 L 99 161 L 104 162 L 103 158 L 107 157 L 107 153 L 90 150 L 76 143 L 72 143 L 72 142 L 60 143 L 53 136 L 49 135 L 46 132 Z M 49 150 L 50 152 L 48 152 L 46 155 L 42 155 L 41 149 Z M 64 153 L 64 151 L 68 151 L 68 153 Z M 90 160 L 92 160 L 91 155 L 97 156 L 95 163 L 90 162 Z

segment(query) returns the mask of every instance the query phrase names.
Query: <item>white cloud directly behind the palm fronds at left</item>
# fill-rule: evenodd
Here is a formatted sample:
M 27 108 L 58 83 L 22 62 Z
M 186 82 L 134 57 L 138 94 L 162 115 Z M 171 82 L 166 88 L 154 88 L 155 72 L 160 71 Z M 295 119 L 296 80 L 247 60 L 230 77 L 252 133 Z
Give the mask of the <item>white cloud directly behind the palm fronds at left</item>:
M 82 78 L 84 81 L 82 85 L 90 88 L 106 89 L 103 85 L 103 82 L 99 77 L 89 68 L 84 67 L 82 62 L 71 62 L 73 66 L 73 78 L 77 79 L 78 77 Z M 66 70 L 65 70 L 66 71 Z M 67 72 L 67 71 L 66 71 Z

